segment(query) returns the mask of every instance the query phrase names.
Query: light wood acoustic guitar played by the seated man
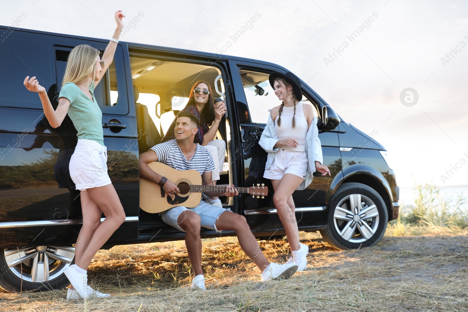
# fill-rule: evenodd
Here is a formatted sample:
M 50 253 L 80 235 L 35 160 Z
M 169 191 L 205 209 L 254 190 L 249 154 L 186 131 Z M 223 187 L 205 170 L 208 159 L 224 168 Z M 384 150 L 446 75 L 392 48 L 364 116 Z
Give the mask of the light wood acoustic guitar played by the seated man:
M 226 186 L 201 185 L 202 176 L 197 170 L 177 170 L 159 161 L 148 164 L 154 172 L 173 181 L 180 193 L 171 198 L 157 183 L 140 177 L 140 208 L 149 213 L 157 213 L 172 207 L 195 208 L 200 204 L 202 192 L 225 193 Z M 249 188 L 237 188 L 239 193 L 249 193 L 259 198 L 268 195 L 268 187 L 257 184 Z

